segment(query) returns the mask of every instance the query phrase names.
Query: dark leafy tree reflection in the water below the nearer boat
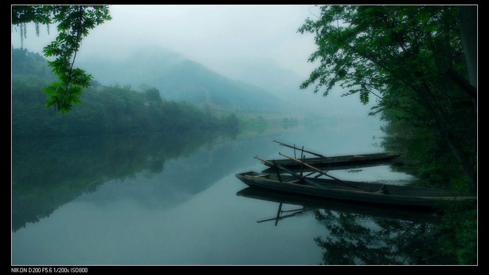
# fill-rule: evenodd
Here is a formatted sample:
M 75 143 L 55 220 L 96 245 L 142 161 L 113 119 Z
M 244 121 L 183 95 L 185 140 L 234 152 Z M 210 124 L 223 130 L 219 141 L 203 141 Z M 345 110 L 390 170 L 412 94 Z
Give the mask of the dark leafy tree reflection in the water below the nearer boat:
M 432 258 L 432 224 L 331 210 L 314 216 L 329 232 L 314 238 L 326 265 L 422 265 Z

